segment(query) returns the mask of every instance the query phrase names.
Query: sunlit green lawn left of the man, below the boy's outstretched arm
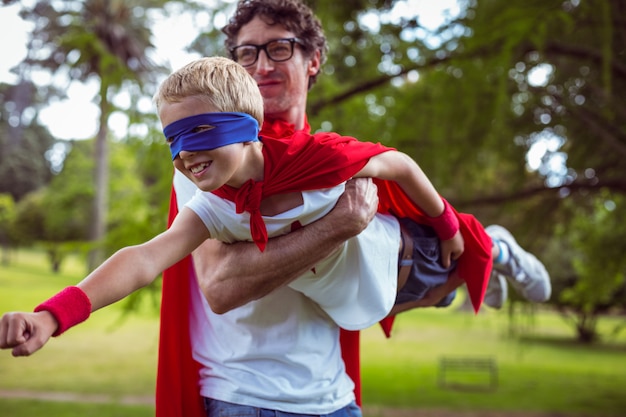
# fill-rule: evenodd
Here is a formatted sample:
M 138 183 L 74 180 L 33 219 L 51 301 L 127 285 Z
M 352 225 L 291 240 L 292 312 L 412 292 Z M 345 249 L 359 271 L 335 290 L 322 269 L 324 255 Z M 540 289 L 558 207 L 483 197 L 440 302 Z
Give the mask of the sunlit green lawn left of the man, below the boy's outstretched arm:
M 32 311 L 83 275 L 84 264 L 78 259 L 69 259 L 61 273 L 52 274 L 43 254 L 13 254 L 8 267 L 0 266 L 0 312 Z M 130 316 L 124 315 L 118 303 L 51 339 L 33 356 L 13 358 L 8 351 L 0 352 L 1 391 L 106 394 L 114 402 L 96 405 L 0 398 L 0 417 L 154 415 L 152 406 L 115 402 L 124 396 L 154 396 L 158 325 L 158 312 L 148 303 Z

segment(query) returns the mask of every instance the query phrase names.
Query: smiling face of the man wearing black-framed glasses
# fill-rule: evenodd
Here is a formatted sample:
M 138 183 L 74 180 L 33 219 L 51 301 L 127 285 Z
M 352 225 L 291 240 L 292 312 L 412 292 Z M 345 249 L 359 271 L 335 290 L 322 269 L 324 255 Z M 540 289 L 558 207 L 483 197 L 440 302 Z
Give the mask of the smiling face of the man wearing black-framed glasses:
M 257 16 L 241 27 L 237 45 L 263 45 L 271 40 L 293 37 L 295 34 L 281 25 L 268 25 Z M 260 51 L 257 62 L 246 67 L 261 90 L 265 117 L 286 120 L 296 128 L 301 128 L 304 122 L 309 77 L 317 74 L 319 68 L 319 52 L 305 57 L 297 44 L 287 61 L 274 62 Z

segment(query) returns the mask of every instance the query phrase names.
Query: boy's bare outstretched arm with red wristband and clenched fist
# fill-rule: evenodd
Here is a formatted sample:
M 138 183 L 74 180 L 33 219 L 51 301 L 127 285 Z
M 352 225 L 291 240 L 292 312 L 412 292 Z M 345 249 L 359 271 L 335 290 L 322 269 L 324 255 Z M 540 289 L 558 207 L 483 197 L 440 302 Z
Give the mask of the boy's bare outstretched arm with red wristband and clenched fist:
M 137 246 L 120 249 L 83 279 L 35 309 L 6 313 L 0 318 L 0 349 L 28 356 L 51 336 L 84 321 L 92 311 L 112 304 L 152 282 L 209 237 L 202 221 L 187 209 L 170 229 Z

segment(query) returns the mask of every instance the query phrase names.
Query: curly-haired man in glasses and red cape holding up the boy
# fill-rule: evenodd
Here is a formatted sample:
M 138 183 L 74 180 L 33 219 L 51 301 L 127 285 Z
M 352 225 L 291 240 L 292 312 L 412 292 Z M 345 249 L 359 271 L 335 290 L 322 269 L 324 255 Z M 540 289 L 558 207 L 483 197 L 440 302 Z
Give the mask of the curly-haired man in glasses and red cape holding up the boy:
M 233 58 L 257 81 L 265 119 L 281 120 L 285 129 L 309 129 L 307 92 L 326 50 L 311 10 L 295 0 L 241 1 L 224 32 Z M 290 52 L 287 59 L 278 53 L 285 48 Z M 178 206 L 193 192 L 176 176 Z M 284 285 L 365 227 L 377 205 L 375 193 L 370 182 L 350 184 L 334 211 L 270 239 L 264 253 L 252 243 L 206 242 L 193 255 L 199 286 L 190 260 L 165 274 L 157 415 L 197 415 L 198 375 L 208 416 L 220 410 L 242 415 L 273 410 L 360 415 L 355 404 L 360 400 L 358 333 L 342 334 L 346 372 L 337 360 L 339 329 Z M 439 301 L 435 298 L 432 304 Z M 214 356 L 228 360 L 216 361 Z M 172 381 L 179 389 L 172 390 Z

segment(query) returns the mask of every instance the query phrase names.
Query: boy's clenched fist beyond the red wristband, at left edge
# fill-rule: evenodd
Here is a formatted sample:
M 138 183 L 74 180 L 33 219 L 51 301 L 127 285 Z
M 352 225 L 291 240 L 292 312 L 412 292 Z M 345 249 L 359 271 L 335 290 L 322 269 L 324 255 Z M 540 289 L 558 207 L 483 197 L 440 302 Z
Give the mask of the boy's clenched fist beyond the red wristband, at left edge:
M 0 319 L 0 349 L 13 349 L 13 356 L 29 356 L 41 349 L 58 323 L 47 311 L 6 313 Z

